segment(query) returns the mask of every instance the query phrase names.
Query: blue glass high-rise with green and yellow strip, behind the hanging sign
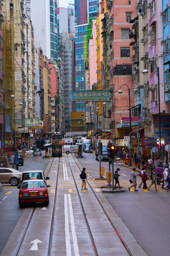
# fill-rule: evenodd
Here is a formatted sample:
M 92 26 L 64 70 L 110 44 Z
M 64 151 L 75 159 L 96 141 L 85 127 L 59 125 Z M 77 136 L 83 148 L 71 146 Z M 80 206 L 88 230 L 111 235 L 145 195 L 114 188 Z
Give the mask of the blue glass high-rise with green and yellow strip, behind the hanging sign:
M 76 0 L 74 3 L 76 90 L 84 90 L 85 70 L 88 69 L 88 40 L 91 38 L 91 22 L 99 14 L 99 0 Z M 76 110 L 84 110 L 84 102 L 76 102 Z

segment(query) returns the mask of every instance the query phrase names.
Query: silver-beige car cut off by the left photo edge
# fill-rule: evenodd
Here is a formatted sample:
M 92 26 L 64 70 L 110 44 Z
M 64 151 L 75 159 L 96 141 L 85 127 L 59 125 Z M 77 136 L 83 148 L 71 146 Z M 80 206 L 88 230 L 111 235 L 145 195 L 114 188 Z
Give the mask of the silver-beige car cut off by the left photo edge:
M 0 168 L 0 182 L 2 184 L 10 183 L 12 186 L 16 186 L 19 183 L 21 172 L 13 168 Z

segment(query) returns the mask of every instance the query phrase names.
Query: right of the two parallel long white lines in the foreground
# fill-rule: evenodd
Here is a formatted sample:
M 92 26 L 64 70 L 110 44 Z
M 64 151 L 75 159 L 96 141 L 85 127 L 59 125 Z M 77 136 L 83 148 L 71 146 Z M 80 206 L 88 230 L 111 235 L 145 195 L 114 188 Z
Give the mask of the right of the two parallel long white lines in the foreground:
M 79 247 L 76 238 L 75 225 L 74 225 L 74 216 L 73 216 L 73 208 L 71 204 L 71 195 L 67 195 L 69 197 L 69 208 L 70 208 L 70 221 L 71 221 L 71 232 L 73 236 L 73 246 L 74 246 L 74 255 L 79 256 Z

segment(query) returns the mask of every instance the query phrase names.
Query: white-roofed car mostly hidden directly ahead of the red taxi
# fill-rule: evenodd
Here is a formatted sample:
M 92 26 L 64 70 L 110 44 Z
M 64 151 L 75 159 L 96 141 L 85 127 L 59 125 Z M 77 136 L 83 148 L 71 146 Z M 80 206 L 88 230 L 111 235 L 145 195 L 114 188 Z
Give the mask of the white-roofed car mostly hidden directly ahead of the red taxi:
M 24 180 L 49 180 L 49 177 L 45 177 L 44 175 L 44 171 L 40 170 L 40 171 L 23 171 L 20 181 L 19 181 L 19 185 L 22 184 L 22 182 Z M 45 181 L 46 183 L 46 181 Z

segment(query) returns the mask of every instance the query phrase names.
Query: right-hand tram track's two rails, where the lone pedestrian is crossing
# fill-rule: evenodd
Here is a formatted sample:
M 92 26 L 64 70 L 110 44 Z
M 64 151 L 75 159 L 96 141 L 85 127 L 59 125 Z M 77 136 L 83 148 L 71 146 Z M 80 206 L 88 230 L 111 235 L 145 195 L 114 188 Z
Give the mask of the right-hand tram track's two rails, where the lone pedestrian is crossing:
M 72 155 L 72 156 L 73 156 L 73 155 Z M 67 158 L 68 158 L 68 156 L 67 156 Z M 76 163 L 76 166 L 79 168 L 79 170 L 80 170 L 80 172 L 81 172 L 82 170 L 80 169 L 80 167 L 79 167 L 78 163 L 76 162 L 74 156 L 73 156 L 73 159 L 74 159 L 74 161 L 75 161 L 75 163 Z M 69 161 L 69 158 L 68 158 L 68 161 Z M 69 162 L 69 166 L 70 166 L 70 162 Z M 71 167 L 70 167 L 70 170 L 71 170 Z M 72 170 L 71 170 L 71 173 L 73 174 Z M 74 175 L 73 175 L 73 178 L 74 178 Z M 125 243 L 124 239 L 122 238 L 121 234 L 118 232 L 116 226 L 114 225 L 113 221 L 112 221 L 111 218 L 109 217 L 109 214 L 107 213 L 107 210 L 104 208 L 103 204 L 101 203 L 99 197 L 96 195 L 96 192 L 95 192 L 94 189 L 92 188 L 91 184 L 88 182 L 88 180 L 86 180 L 86 181 L 87 181 L 89 187 L 91 188 L 92 192 L 94 193 L 94 196 L 96 197 L 97 201 L 99 202 L 100 207 L 103 209 L 103 212 L 105 213 L 105 216 L 107 217 L 108 221 L 110 222 L 110 224 L 112 225 L 114 231 L 116 232 L 118 238 L 120 239 L 122 245 L 124 246 L 126 252 L 128 253 L 129 256 L 133 256 L 133 254 L 131 253 L 131 251 L 130 251 L 128 245 L 126 245 L 126 243 Z M 74 179 L 74 182 L 75 182 L 75 179 Z M 78 191 L 78 187 L 77 187 L 77 185 L 76 185 L 76 182 L 75 182 L 75 186 L 76 186 L 76 190 Z M 78 191 L 78 195 L 79 195 L 79 191 Z M 84 208 L 83 208 L 83 204 L 82 204 L 82 200 L 81 200 L 81 198 L 80 198 L 80 195 L 79 195 L 79 200 L 80 200 L 80 204 L 82 205 L 82 209 L 83 209 L 83 211 L 84 211 Z M 83 212 L 83 214 L 86 216 L 85 212 Z M 85 219 L 86 219 L 86 221 L 87 221 L 87 218 L 86 218 L 86 217 L 85 217 Z M 87 221 L 87 222 L 88 222 L 88 221 Z M 88 225 L 88 226 L 89 226 L 89 225 Z M 89 227 L 89 229 L 90 229 L 90 227 Z M 91 234 L 91 236 L 92 236 L 92 234 Z M 92 244 L 94 244 L 94 239 L 91 238 L 91 240 L 92 240 Z M 95 246 L 95 244 L 94 244 L 94 246 Z M 96 246 L 95 246 L 95 247 L 96 247 Z M 97 251 L 97 249 L 96 249 L 96 251 Z M 96 255 L 98 255 L 98 254 L 96 254 Z

